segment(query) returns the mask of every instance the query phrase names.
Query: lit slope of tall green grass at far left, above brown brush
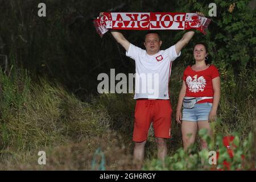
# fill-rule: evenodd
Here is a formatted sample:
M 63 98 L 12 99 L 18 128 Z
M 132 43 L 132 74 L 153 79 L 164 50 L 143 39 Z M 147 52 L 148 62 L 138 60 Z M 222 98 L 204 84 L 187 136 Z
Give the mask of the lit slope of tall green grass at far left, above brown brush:
M 81 102 L 61 86 L 45 80 L 32 84 L 26 72 L 20 71 L 18 76 L 0 74 L 0 147 L 4 169 L 8 169 L 5 166 L 9 163 L 30 162 L 31 155 L 37 158 L 40 150 L 93 137 L 100 140 L 109 133 L 106 109 Z

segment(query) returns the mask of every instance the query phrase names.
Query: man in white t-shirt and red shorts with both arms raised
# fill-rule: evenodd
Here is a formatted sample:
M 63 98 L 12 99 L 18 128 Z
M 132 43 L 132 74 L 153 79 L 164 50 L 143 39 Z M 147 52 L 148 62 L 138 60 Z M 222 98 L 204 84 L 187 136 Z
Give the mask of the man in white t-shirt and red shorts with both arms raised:
M 135 77 L 134 98 L 137 103 L 133 132 L 134 160 L 138 163 L 143 161 L 144 146 L 152 121 L 158 147 L 158 158 L 164 161 L 164 157 L 167 155 L 166 139 L 171 137 L 172 109 L 168 93 L 171 63 L 180 56 L 181 49 L 188 44 L 195 32 L 186 32 L 179 42 L 164 51 L 160 51 L 162 40 L 158 32 L 147 32 L 144 39 L 146 50 L 131 44 L 121 32 L 112 31 L 111 34 L 125 48 L 126 56 L 135 60 L 137 75 Z M 142 77 L 143 74 L 146 76 Z M 148 92 L 152 85 L 154 85 L 153 93 Z

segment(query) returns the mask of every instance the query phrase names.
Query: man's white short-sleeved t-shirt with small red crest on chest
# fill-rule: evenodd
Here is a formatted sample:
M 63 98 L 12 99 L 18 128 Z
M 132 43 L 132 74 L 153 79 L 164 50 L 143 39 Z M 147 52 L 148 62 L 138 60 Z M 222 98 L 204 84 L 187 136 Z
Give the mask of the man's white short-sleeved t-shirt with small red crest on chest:
M 171 63 L 177 57 L 175 46 L 148 55 L 146 50 L 130 44 L 126 56 L 135 60 L 135 95 L 137 98 L 169 99 L 168 82 Z

